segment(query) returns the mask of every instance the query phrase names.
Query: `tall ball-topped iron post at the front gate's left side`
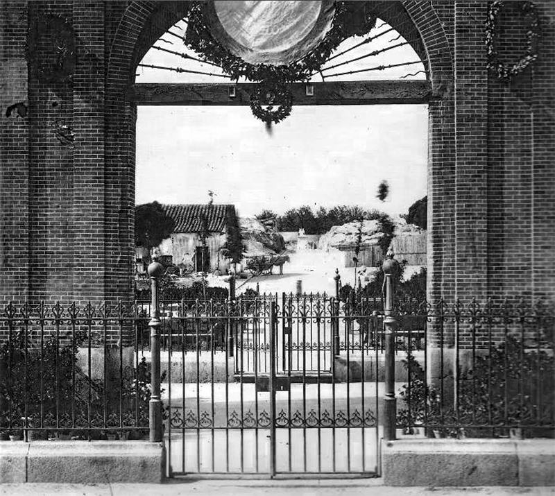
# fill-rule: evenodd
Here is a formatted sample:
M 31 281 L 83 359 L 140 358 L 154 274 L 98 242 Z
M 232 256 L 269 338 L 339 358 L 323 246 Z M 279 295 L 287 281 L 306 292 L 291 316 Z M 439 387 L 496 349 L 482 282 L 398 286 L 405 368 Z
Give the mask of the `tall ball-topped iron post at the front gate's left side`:
M 162 441 L 162 400 L 160 399 L 160 298 L 158 295 L 158 278 L 164 267 L 158 262 L 148 266 L 151 277 L 151 400 L 148 402 L 148 427 L 151 443 Z

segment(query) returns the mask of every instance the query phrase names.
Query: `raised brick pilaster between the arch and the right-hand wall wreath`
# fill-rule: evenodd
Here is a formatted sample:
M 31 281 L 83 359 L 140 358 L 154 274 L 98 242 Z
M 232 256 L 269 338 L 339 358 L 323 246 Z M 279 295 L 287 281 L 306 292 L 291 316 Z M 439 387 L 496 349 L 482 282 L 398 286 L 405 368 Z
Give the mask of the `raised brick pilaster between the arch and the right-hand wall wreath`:
M 486 296 L 488 260 L 488 69 L 484 49 L 487 3 L 454 9 L 455 293 Z

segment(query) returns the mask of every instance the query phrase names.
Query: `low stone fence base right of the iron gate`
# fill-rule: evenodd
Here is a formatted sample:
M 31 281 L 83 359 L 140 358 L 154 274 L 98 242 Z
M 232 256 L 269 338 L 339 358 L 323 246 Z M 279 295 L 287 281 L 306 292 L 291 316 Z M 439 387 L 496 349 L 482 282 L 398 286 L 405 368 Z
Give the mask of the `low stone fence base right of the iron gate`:
M 555 486 L 552 439 L 382 442 L 386 486 Z

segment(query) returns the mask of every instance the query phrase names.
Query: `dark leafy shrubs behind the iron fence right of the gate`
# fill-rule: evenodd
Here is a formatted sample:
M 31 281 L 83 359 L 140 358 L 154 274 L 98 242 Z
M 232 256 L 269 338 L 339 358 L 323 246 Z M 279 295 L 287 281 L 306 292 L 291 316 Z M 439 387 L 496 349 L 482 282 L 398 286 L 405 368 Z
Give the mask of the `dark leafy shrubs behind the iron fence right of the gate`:
M 476 357 L 473 369 L 461 374 L 456 410 L 452 398 L 442 402 L 439 389 L 426 384 L 424 370 L 412 356 L 405 367 L 411 381 L 401 388 L 399 397 L 407 408 L 399 412 L 397 420 L 409 431 L 426 425 L 437 427 L 442 436 L 455 437 L 463 431 L 470 436 L 490 434 L 491 427 L 480 425 L 504 430 L 528 427 L 531 433 L 538 426 L 555 428 L 554 356 L 538 348 L 525 349 L 513 336 L 490 355 Z

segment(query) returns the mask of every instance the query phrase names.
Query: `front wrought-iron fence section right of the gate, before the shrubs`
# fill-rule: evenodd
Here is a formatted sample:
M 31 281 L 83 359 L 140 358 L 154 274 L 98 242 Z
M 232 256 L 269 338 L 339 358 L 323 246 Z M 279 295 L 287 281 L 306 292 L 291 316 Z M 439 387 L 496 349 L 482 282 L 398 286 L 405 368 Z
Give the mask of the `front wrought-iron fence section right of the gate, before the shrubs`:
M 427 324 L 407 349 L 398 427 L 437 437 L 553 436 L 554 311 L 537 302 L 398 305 Z

